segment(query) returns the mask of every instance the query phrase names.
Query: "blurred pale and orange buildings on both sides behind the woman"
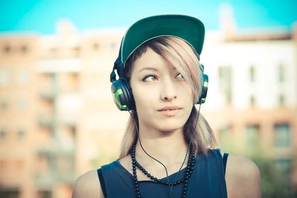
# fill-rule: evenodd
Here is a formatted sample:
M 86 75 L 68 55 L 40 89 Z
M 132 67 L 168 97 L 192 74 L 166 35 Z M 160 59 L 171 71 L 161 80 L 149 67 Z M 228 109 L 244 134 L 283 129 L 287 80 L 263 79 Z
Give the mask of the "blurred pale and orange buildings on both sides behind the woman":
M 297 184 L 297 26 L 235 21 L 224 7 L 206 31 L 201 112 L 223 151 L 259 148 Z M 129 114 L 109 74 L 125 31 L 60 20 L 54 35 L 0 35 L 0 197 L 70 198 L 78 176 L 118 157 Z

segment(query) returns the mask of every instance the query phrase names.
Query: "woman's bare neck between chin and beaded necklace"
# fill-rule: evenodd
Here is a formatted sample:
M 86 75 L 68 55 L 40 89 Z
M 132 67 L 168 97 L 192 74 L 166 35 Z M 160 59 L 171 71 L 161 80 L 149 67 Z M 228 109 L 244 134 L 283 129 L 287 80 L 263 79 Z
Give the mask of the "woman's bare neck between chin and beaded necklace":
M 163 164 L 171 165 L 183 162 L 188 144 L 183 135 L 183 129 L 175 131 L 159 131 L 140 126 L 139 138 L 146 152 Z M 188 152 L 189 154 L 189 152 Z M 155 165 L 157 161 L 149 157 L 141 148 L 139 140 L 136 145 L 136 159 L 141 164 Z

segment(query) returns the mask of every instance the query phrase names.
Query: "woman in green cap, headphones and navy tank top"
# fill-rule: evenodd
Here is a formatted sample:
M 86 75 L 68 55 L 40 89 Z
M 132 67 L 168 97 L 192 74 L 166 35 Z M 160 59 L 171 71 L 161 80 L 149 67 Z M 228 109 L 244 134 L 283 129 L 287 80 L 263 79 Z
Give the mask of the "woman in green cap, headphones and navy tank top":
M 257 166 L 216 148 L 199 115 L 203 42 L 204 25 L 188 15 L 150 16 L 128 29 L 113 68 L 120 79 L 110 76 L 115 104 L 131 114 L 120 157 L 80 176 L 73 198 L 261 197 Z

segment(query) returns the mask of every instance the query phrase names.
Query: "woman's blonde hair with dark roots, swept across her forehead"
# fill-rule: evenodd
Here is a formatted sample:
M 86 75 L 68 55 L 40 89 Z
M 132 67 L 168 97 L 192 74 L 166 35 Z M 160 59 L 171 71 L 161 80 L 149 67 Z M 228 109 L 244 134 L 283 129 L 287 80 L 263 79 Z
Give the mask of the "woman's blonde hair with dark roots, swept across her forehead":
M 191 45 L 177 37 L 162 36 L 151 39 L 133 51 L 125 62 L 125 76 L 128 82 L 131 78 L 134 62 L 140 58 L 148 48 L 161 55 L 181 72 L 193 91 L 193 108 L 183 127 L 184 138 L 189 144 L 198 116 L 198 111 L 194 104 L 201 95 L 203 84 L 202 67 L 198 60 L 198 53 Z M 131 114 L 135 119 L 137 127 L 139 127 L 137 111 L 131 110 Z M 137 138 L 135 123 L 130 117 L 126 125 L 119 158 L 123 158 L 130 153 L 133 145 L 137 143 Z M 202 155 L 205 155 L 208 149 L 215 148 L 217 145 L 209 124 L 201 114 L 199 114 L 198 125 L 191 144 L 194 147 L 194 151 Z

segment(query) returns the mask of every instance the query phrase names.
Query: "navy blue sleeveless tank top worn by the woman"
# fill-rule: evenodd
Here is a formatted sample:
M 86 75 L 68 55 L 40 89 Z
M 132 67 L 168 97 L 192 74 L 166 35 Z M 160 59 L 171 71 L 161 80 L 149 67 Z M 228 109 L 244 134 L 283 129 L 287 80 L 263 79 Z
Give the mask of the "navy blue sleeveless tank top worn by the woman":
M 222 157 L 219 148 L 210 149 L 205 156 L 196 156 L 194 171 L 188 183 L 187 198 L 227 198 L 227 157 L 227 153 Z M 133 176 L 119 163 L 119 159 L 101 166 L 97 172 L 104 198 L 136 198 Z M 183 179 L 185 173 L 186 168 L 180 171 L 176 181 Z M 169 175 L 169 181 L 172 182 L 176 175 L 177 172 Z M 161 181 L 166 182 L 167 178 Z M 174 198 L 182 197 L 183 187 L 184 185 L 180 184 L 172 188 Z M 152 180 L 139 181 L 139 189 L 142 198 L 171 198 L 169 186 Z

